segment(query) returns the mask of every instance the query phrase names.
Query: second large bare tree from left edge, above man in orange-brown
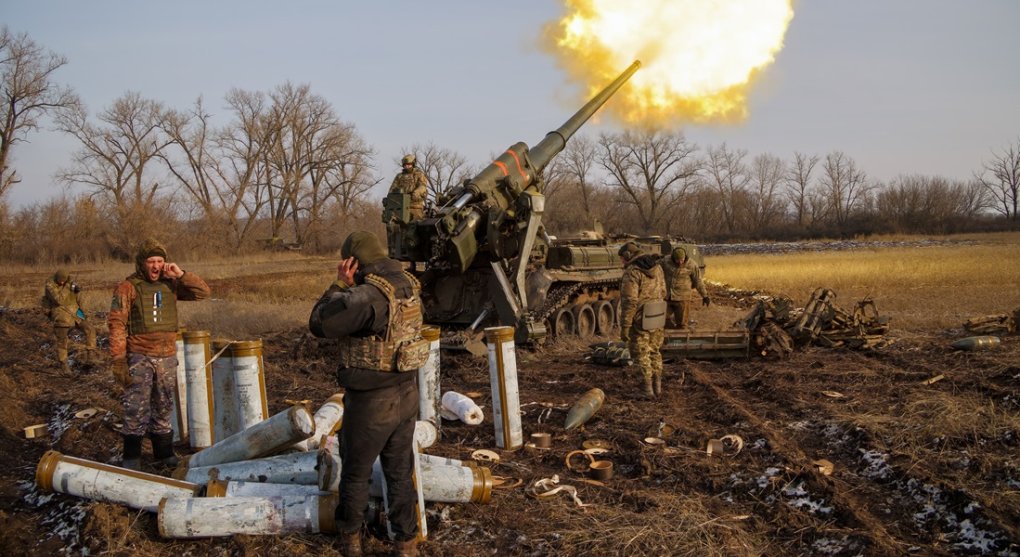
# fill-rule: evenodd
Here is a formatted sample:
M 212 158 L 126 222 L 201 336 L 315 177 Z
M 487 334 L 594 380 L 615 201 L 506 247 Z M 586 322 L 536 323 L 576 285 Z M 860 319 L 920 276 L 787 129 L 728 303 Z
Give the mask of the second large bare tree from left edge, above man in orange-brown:
M 160 201 L 156 172 L 171 140 L 162 133 L 163 105 L 129 92 L 89 120 L 84 107 L 62 112 L 58 128 L 81 144 L 69 168 L 58 173 L 65 184 L 80 184 L 113 212 L 115 244 L 130 249 L 140 234 L 158 230 L 152 221 Z

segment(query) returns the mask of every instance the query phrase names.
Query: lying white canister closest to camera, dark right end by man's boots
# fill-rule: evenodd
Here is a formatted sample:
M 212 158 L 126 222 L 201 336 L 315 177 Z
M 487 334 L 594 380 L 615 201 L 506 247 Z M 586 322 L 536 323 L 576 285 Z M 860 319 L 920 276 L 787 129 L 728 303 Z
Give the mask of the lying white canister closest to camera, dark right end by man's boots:
M 168 497 L 159 502 L 163 538 L 248 535 L 335 534 L 337 496 Z

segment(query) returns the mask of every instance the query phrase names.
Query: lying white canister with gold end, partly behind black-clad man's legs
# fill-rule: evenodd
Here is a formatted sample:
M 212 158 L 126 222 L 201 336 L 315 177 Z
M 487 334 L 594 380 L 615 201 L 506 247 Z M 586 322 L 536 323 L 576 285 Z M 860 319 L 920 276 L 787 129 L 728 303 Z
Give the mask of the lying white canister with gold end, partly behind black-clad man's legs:
M 437 503 L 489 503 L 493 494 L 493 473 L 489 468 L 461 466 L 436 462 L 441 457 L 418 455 L 419 473 L 415 482 L 421 486 L 425 501 Z M 319 460 L 319 484 L 322 491 L 337 491 L 342 464 L 339 455 L 323 455 Z M 382 497 L 386 478 L 382 463 L 372 464 L 372 482 L 369 495 Z

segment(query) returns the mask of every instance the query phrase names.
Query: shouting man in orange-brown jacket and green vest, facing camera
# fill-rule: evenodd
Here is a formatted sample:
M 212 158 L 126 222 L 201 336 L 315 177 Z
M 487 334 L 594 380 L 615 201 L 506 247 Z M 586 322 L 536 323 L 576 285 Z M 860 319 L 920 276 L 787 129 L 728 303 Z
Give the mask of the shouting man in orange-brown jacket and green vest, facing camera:
M 151 239 L 139 246 L 135 273 L 113 291 L 107 322 L 113 376 L 124 388 L 120 433 L 125 468 L 139 469 L 145 435 L 157 462 L 177 463 L 170 431 L 177 372 L 176 302 L 208 297 L 205 281 L 166 262 L 166 249 Z

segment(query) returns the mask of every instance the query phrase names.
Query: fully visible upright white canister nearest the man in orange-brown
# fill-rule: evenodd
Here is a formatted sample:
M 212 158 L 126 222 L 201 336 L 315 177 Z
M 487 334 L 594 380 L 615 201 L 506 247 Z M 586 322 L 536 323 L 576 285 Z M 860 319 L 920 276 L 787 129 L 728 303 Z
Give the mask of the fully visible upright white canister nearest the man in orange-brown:
M 209 332 L 186 331 L 185 373 L 188 388 L 188 434 L 193 449 L 213 443 L 212 370 L 209 363 Z

